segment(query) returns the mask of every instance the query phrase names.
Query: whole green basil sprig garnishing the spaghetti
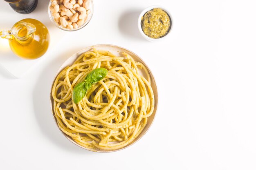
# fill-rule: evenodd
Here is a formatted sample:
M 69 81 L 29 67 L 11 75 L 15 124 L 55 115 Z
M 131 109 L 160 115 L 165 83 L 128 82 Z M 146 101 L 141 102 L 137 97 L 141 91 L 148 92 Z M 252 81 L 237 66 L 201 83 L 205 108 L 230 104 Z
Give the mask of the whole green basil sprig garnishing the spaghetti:
M 108 70 L 106 68 L 96 68 L 91 71 L 88 75 L 86 75 L 83 82 L 76 84 L 73 89 L 73 100 L 75 104 L 85 97 L 87 91 L 91 88 L 92 84 L 101 81 L 108 74 Z

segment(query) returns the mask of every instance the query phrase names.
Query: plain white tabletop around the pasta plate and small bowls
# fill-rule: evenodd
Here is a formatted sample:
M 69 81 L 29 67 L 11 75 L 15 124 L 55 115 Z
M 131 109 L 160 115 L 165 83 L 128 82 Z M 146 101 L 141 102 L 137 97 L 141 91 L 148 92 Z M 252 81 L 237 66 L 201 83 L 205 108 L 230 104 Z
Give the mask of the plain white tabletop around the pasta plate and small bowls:
M 33 13 L 61 31 L 48 18 L 48 0 L 39 1 Z M 147 42 L 137 30 L 140 11 L 154 4 L 173 17 L 171 35 L 162 42 Z M 255 7 L 255 0 L 94 0 L 91 22 L 80 31 L 62 31 L 58 44 L 21 78 L 0 69 L 0 169 L 255 170 Z M 0 9 L 15 13 L 3 0 Z M 8 23 L 3 22 L 8 16 L 1 16 L 0 29 L 33 13 L 15 13 Z M 49 105 L 61 64 L 80 49 L 103 43 L 137 53 L 159 92 L 147 134 L 107 154 L 68 141 Z

